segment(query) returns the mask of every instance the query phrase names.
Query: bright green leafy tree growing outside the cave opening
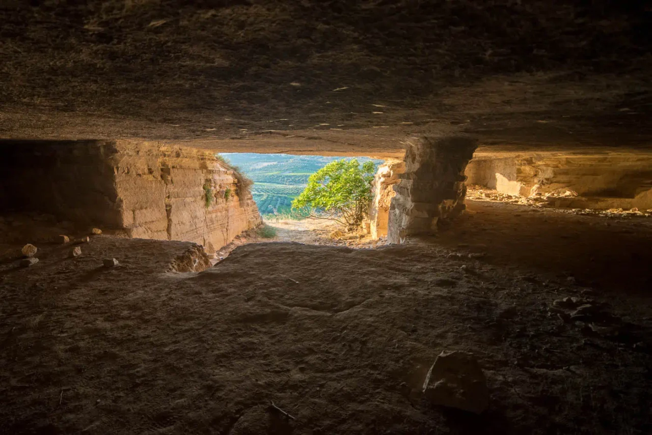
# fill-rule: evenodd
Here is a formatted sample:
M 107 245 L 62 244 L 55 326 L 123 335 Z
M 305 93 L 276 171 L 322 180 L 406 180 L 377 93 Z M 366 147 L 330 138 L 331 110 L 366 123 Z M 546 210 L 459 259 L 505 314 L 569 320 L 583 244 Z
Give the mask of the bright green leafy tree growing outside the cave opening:
M 363 165 L 355 159 L 331 161 L 310 175 L 292 208 L 308 218 L 333 219 L 355 229 L 369 210 L 375 171 L 373 161 Z

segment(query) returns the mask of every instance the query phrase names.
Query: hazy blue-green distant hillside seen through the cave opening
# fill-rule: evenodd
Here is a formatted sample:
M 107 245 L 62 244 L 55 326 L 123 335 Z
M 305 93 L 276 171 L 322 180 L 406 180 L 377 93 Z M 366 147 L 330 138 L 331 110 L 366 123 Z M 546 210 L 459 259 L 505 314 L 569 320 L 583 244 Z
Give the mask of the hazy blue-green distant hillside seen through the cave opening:
M 254 153 L 226 153 L 222 156 L 254 180 L 252 195 L 263 215 L 288 213 L 292 200 L 306 187 L 308 177 L 327 163 L 342 158 Z M 383 163 L 366 157 L 357 160 L 361 163 L 372 160 L 377 166 Z

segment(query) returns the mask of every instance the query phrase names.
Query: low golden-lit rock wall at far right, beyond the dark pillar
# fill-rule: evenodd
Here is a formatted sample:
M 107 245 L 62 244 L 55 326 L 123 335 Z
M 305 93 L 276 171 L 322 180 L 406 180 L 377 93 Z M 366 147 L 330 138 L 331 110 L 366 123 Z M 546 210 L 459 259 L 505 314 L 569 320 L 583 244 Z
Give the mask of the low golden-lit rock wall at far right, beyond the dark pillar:
M 569 191 L 563 206 L 652 208 L 652 153 L 479 154 L 466 175 L 468 184 L 509 195 Z

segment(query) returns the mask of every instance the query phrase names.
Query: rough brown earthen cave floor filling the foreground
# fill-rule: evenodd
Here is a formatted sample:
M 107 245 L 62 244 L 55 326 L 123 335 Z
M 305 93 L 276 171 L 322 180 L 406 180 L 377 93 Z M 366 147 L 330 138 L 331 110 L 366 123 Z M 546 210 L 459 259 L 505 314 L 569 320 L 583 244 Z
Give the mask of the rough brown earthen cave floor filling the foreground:
M 650 433 L 651 241 L 647 220 L 470 202 L 436 238 L 246 244 L 200 273 L 166 272 L 184 242 L 7 251 L 0 432 Z M 479 359 L 483 415 L 422 399 L 442 350 Z

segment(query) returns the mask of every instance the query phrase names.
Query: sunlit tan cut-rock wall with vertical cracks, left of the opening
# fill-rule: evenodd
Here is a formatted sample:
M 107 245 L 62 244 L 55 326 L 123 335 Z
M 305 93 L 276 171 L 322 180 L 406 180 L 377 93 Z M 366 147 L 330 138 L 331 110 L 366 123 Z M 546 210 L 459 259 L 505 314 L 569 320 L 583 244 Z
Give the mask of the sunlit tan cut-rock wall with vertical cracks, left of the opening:
M 129 236 L 196 242 L 213 253 L 261 223 L 251 193 L 212 152 L 126 141 L 117 150 L 111 164 Z

